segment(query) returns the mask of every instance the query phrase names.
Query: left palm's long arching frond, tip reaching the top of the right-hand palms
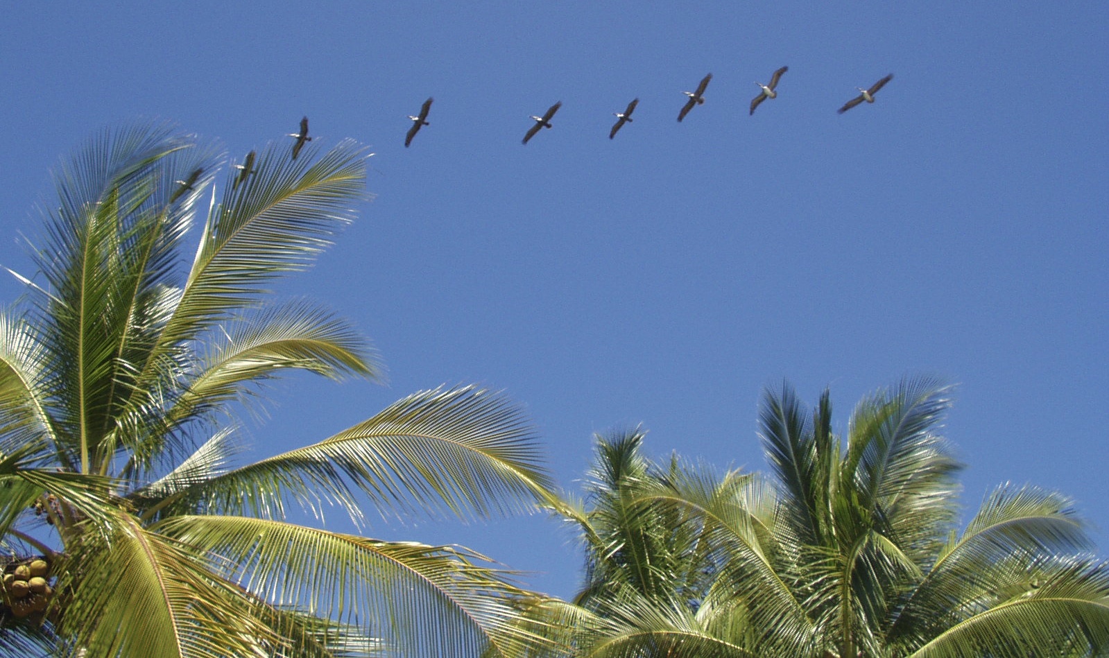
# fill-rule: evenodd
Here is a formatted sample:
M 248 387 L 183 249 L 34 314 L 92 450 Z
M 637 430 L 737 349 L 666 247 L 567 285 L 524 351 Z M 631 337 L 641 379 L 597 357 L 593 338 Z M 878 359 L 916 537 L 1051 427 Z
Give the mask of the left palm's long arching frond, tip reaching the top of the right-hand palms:
M 191 488 L 205 509 L 279 518 L 292 496 L 324 497 L 360 518 L 348 483 L 379 506 L 462 518 L 531 512 L 550 495 L 532 428 L 503 397 L 474 386 L 400 399 L 319 443 L 236 468 Z

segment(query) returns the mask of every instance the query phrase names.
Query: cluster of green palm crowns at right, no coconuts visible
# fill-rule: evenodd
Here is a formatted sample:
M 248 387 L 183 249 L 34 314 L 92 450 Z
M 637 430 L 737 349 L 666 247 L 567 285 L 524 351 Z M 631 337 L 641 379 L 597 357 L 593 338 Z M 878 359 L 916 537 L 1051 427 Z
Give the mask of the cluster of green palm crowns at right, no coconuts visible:
M 948 406 L 947 386 L 905 381 L 841 437 L 827 392 L 810 412 L 783 386 L 760 414 L 770 478 L 601 439 L 592 506 L 558 509 L 586 587 L 536 617 L 576 624 L 562 642 L 590 657 L 1109 655 L 1109 569 L 1068 498 L 1004 485 L 959 529 Z

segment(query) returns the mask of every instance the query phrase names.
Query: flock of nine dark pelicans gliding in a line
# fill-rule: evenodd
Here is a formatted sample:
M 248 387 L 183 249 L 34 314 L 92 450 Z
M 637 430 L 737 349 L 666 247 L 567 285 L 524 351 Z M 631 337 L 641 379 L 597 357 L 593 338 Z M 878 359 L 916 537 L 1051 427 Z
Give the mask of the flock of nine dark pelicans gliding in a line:
M 755 109 L 766 99 L 777 98 L 777 91 L 776 91 L 777 83 L 782 79 L 782 74 L 788 70 L 790 67 L 782 67 L 781 69 L 774 71 L 774 74 L 771 75 L 770 82 L 767 84 L 763 84 L 762 82 L 755 82 L 755 84 L 757 84 L 762 89 L 759 92 L 759 95 L 756 95 L 754 99 L 751 100 L 751 114 L 754 114 Z M 886 75 L 882 80 L 878 80 L 877 82 L 872 84 L 869 89 L 863 89 L 862 87 L 856 87 L 855 89 L 857 89 L 859 92 L 858 95 L 844 103 L 843 107 L 837 110 L 837 112 L 843 114 L 847 110 L 854 108 L 855 105 L 864 101 L 867 103 L 873 103 L 874 94 L 876 94 L 879 89 L 885 87 L 887 82 L 893 80 L 893 77 L 894 77 L 893 73 Z M 708 89 L 709 81 L 711 80 L 712 80 L 712 73 L 709 73 L 708 75 L 701 79 L 701 82 L 696 85 L 695 91 L 682 92 L 689 98 L 686 99 L 685 104 L 682 105 L 681 111 L 678 112 L 678 121 L 685 119 L 685 115 L 690 113 L 690 110 L 692 110 L 696 105 L 701 105 L 704 103 L 704 90 Z M 424 101 L 424 104 L 419 109 L 419 114 L 415 117 L 410 114 L 408 115 L 408 118 L 411 119 L 413 121 L 413 125 L 411 128 L 408 129 L 408 133 L 405 135 L 405 146 L 408 146 L 409 144 L 413 143 L 413 138 L 416 136 L 416 133 L 419 132 L 420 128 L 429 125 L 427 121 L 427 115 L 431 111 L 433 100 L 434 99 L 427 99 L 426 101 Z M 628 103 L 628 107 L 624 108 L 623 112 L 612 113 L 617 118 L 617 122 L 612 125 L 612 130 L 609 131 L 610 140 L 617 136 L 617 132 L 619 132 L 620 129 L 623 128 L 624 123 L 630 123 L 632 121 L 631 114 L 632 112 L 635 111 L 635 105 L 638 104 L 639 104 L 639 99 L 633 99 L 630 103 Z M 559 101 L 553 105 L 551 105 L 550 108 L 548 108 L 542 117 L 532 115 L 531 119 L 535 121 L 535 124 L 532 124 L 532 126 L 528 129 L 528 132 L 525 133 L 523 143 L 527 144 L 528 140 L 536 136 L 536 133 L 538 133 L 540 129 L 551 128 L 551 118 L 554 117 L 554 113 L 558 112 L 559 108 L 561 107 L 562 107 L 562 101 Z M 288 136 L 294 138 L 296 140 L 295 142 L 293 142 L 293 160 L 296 160 L 296 156 L 301 154 L 301 149 L 304 148 L 304 144 L 306 142 L 312 141 L 312 138 L 308 136 L 308 118 L 305 117 L 301 119 L 301 131 L 291 132 L 288 133 Z M 234 165 L 235 169 L 238 170 L 238 175 L 235 176 L 234 181 L 235 188 L 237 188 L 243 181 L 245 181 L 248 175 L 254 173 L 255 155 L 256 155 L 255 152 L 251 151 L 250 153 L 246 154 L 246 159 L 243 161 L 242 164 Z M 176 201 L 176 199 L 182 194 L 184 194 L 187 190 L 192 190 L 193 184 L 196 183 L 197 179 L 200 179 L 202 171 L 203 170 L 197 169 L 196 171 L 191 173 L 187 179 L 183 181 L 176 181 L 177 183 L 180 183 L 181 186 L 173 193 L 173 195 L 170 199 L 170 203 Z

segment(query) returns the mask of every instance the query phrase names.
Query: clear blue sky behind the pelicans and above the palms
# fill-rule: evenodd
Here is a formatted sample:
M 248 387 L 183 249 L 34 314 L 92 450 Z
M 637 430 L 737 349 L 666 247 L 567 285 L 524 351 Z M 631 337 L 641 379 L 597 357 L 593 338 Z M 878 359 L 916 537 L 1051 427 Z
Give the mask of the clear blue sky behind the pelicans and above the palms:
M 59 2 L 0 30 L 17 271 L 50 168 L 104 126 L 170 119 L 242 158 L 307 114 L 317 143 L 375 151 L 376 199 L 279 292 L 354 321 L 389 382 L 282 383 L 250 427 L 258 456 L 476 382 L 526 407 L 570 489 L 592 433 L 640 423 L 654 455 L 762 469 L 765 386 L 831 386 L 844 429 L 864 394 L 934 374 L 958 385 L 965 505 L 1007 480 L 1060 489 L 1105 555 L 1105 2 Z M 542 517 L 369 533 L 469 545 L 560 596 L 579 576 Z

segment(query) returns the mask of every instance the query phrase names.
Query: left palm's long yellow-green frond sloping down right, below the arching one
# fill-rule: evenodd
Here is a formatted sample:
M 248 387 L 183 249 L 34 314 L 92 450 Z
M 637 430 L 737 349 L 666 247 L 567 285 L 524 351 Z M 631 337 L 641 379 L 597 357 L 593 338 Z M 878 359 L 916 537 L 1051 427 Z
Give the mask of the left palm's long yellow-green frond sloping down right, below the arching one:
M 470 646 L 515 656 L 545 645 L 518 624 L 525 593 L 465 549 L 248 517 L 179 516 L 154 527 L 221 555 L 263 599 L 359 624 L 403 655 L 458 655 Z

